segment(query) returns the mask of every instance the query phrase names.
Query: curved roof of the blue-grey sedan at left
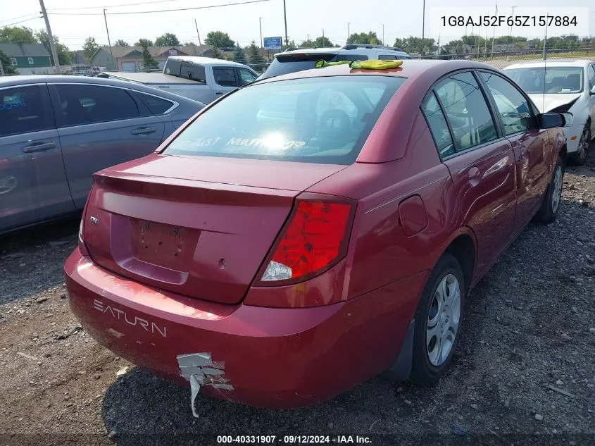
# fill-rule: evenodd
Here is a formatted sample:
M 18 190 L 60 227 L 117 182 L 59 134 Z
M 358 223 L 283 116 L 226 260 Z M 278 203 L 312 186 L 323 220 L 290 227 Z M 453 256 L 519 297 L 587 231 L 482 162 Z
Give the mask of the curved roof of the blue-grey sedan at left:
M 177 94 L 163 92 L 161 89 L 152 87 L 146 87 L 136 82 L 126 82 L 125 80 L 105 79 L 96 78 L 94 76 L 68 76 L 68 75 L 16 75 L 16 76 L 1 76 L 0 77 L 0 88 L 1 87 L 12 87 L 18 85 L 30 85 L 40 83 L 64 83 L 69 84 L 94 84 L 94 85 L 108 85 L 112 87 L 124 87 L 128 89 L 137 90 L 138 92 L 145 92 L 153 94 L 154 96 L 161 96 L 169 98 L 178 102 L 191 101 L 196 102 L 192 99 L 181 97 Z

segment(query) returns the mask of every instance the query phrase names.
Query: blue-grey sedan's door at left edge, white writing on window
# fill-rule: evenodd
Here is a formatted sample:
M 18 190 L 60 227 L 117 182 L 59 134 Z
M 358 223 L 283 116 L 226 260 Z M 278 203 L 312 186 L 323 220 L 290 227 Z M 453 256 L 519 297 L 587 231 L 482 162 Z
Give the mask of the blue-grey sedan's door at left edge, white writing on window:
M 45 84 L 0 89 L 0 232 L 75 210 Z

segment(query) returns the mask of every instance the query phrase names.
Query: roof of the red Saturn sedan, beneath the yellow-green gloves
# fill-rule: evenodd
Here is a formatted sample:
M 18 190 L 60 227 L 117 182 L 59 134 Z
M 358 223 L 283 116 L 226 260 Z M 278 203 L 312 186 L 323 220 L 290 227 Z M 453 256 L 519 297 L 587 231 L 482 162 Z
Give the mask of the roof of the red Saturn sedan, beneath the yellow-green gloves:
M 316 78 L 327 76 L 342 76 L 342 75 L 383 75 L 383 76 L 398 76 L 400 78 L 417 78 L 421 75 L 427 75 L 428 79 L 441 77 L 451 71 L 461 70 L 464 68 L 484 68 L 487 70 L 496 70 L 493 66 L 486 63 L 477 63 L 465 60 L 459 61 L 436 61 L 429 59 L 407 59 L 403 61 L 403 65 L 399 68 L 391 68 L 388 70 L 352 70 L 348 64 L 337 66 L 330 66 L 326 68 L 313 68 L 311 70 L 296 71 L 295 73 L 288 73 L 284 75 L 275 76 L 273 78 L 266 78 L 256 82 L 277 82 L 280 80 L 299 79 L 299 78 Z M 433 82 L 433 81 L 432 81 Z

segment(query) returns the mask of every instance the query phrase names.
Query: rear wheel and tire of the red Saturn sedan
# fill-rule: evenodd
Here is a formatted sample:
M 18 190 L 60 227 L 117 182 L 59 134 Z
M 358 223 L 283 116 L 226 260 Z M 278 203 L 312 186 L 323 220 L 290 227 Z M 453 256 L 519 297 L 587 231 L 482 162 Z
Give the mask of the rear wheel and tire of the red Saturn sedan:
M 413 383 L 433 384 L 449 366 L 461 331 L 465 290 L 461 264 L 452 254 L 442 254 L 415 311 Z

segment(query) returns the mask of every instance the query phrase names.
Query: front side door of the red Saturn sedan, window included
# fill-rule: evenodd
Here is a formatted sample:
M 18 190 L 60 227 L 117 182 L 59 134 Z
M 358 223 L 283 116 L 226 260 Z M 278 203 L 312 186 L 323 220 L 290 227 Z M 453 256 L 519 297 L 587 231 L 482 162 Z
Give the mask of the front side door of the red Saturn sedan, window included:
M 480 78 L 487 86 L 503 133 L 515 152 L 515 230 L 520 230 L 537 212 L 551 178 L 549 132 L 539 128 L 529 99 L 510 81 L 492 71 L 480 71 Z

